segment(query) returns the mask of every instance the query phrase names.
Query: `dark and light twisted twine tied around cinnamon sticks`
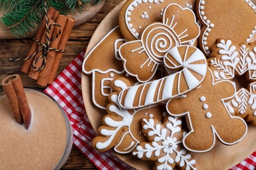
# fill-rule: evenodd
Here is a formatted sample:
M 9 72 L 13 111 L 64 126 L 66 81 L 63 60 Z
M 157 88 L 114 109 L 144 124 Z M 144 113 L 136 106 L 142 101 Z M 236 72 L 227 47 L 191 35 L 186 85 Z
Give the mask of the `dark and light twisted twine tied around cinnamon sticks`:
M 32 55 L 26 57 L 26 58 L 9 58 L 9 60 L 11 61 L 25 61 L 27 59 L 30 58 L 34 58 L 40 51 L 42 51 L 43 53 L 41 54 L 41 56 L 39 56 L 38 58 L 36 58 L 33 63 L 32 63 L 32 68 L 35 71 L 41 71 L 47 62 L 47 54 L 49 51 L 54 51 L 54 52 L 65 52 L 66 50 L 60 50 L 60 49 L 56 49 L 56 48 L 51 48 L 50 44 L 51 42 L 54 41 L 54 39 L 58 38 L 58 35 L 61 34 L 61 26 L 57 23 L 53 23 L 53 24 L 49 24 L 49 18 L 48 18 L 48 14 L 47 14 L 47 4 L 44 4 L 44 11 L 45 11 L 45 30 L 46 30 L 46 40 L 45 42 L 40 42 L 38 39 L 34 38 L 33 41 L 37 42 L 37 44 L 39 46 L 41 46 L 41 48 L 39 48 L 37 51 L 35 51 Z M 56 33 L 56 35 L 52 38 L 50 38 L 49 36 L 49 31 L 52 29 L 53 26 L 57 26 L 58 27 L 58 33 Z M 39 59 L 43 58 L 43 63 L 41 65 L 41 67 L 36 67 L 36 63 L 39 61 Z

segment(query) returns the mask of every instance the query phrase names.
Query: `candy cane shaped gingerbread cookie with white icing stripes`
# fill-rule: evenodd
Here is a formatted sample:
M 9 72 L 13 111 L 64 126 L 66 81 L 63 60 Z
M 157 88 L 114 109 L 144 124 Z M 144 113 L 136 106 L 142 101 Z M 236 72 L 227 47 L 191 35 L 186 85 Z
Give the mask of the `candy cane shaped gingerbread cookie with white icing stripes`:
M 167 68 L 178 70 L 177 73 L 122 90 L 119 93 L 121 107 L 136 109 L 167 101 L 200 86 L 207 73 L 207 60 L 194 46 L 171 48 L 164 63 Z

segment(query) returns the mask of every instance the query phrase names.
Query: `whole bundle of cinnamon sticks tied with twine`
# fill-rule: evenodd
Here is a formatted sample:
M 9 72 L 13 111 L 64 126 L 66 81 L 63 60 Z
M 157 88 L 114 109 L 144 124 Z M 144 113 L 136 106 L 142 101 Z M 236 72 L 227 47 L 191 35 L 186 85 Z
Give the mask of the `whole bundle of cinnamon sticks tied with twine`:
M 72 18 L 72 16 L 64 16 L 62 14 L 59 14 L 58 10 L 55 10 L 52 7 L 50 7 L 47 11 L 47 16 L 49 20 L 49 25 L 56 23 L 60 26 L 53 26 L 48 31 L 50 39 L 51 37 L 56 37 L 56 35 L 59 34 L 58 37 L 51 42 L 49 47 L 64 50 L 74 27 L 75 20 L 74 18 Z M 46 20 L 44 18 L 43 22 L 39 26 L 37 35 L 35 36 L 35 39 L 42 44 L 47 41 L 47 29 L 45 29 L 45 27 Z M 61 32 L 59 33 L 60 29 Z M 40 48 L 43 47 L 40 46 L 36 41 L 33 41 L 30 52 L 28 53 L 28 57 L 35 54 L 35 52 L 37 52 L 37 50 L 39 50 Z M 60 64 L 60 60 L 63 56 L 63 52 L 56 52 L 54 50 L 50 50 L 49 52 L 47 52 L 45 67 L 43 67 L 41 71 L 36 71 L 35 69 L 33 69 L 32 64 L 35 62 L 35 59 L 39 58 L 39 56 L 42 55 L 42 53 L 42 51 L 39 51 L 32 58 L 25 60 L 21 71 L 24 73 L 28 73 L 31 78 L 37 80 L 37 84 L 41 86 L 47 86 L 47 84 L 51 84 L 55 78 L 58 66 Z M 39 59 L 34 66 L 37 68 L 41 67 L 42 63 L 43 58 Z

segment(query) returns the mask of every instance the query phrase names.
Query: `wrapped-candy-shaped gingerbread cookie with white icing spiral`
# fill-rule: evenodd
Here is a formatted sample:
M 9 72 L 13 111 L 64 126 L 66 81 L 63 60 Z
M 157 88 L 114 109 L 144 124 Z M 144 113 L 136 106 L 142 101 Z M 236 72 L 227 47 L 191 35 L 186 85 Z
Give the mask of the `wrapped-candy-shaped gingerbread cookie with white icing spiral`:
M 119 48 L 125 71 L 139 82 L 150 80 L 158 65 L 174 46 L 193 41 L 200 27 L 190 9 L 170 4 L 163 10 L 163 22 L 155 22 L 144 29 L 140 40 L 128 41 Z

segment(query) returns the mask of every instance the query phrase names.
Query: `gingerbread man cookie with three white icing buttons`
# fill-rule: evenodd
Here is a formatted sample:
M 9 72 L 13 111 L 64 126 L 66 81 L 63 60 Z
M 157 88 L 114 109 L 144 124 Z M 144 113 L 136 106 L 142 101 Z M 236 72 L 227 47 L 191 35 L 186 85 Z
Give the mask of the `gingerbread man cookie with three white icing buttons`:
M 229 80 L 215 82 L 209 69 L 200 88 L 168 101 L 169 114 L 187 116 L 190 132 L 183 140 L 185 148 L 207 152 L 215 146 L 216 139 L 231 145 L 245 137 L 247 124 L 242 118 L 231 116 L 224 105 L 224 101 L 234 97 L 235 90 Z

